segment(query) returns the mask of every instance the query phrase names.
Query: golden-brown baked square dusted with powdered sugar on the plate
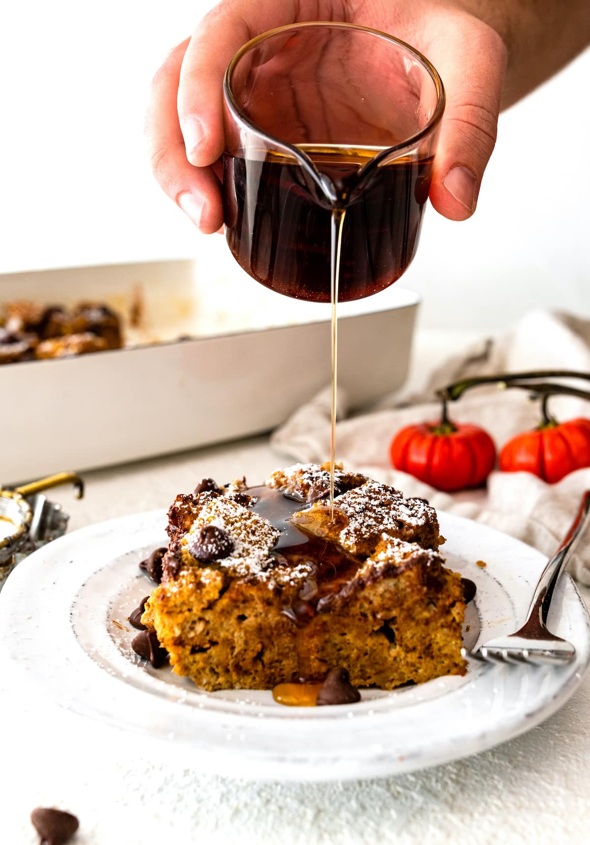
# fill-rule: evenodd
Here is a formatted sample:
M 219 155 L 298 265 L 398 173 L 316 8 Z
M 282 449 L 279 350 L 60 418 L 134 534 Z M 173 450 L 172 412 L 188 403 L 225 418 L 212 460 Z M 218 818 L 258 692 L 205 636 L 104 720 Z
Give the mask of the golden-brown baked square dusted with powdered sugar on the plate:
M 385 690 L 464 673 L 463 586 L 436 551 L 430 505 L 339 469 L 332 518 L 325 465 L 257 488 L 203 481 L 171 506 L 162 583 L 142 616 L 176 673 L 204 690 L 336 667 Z

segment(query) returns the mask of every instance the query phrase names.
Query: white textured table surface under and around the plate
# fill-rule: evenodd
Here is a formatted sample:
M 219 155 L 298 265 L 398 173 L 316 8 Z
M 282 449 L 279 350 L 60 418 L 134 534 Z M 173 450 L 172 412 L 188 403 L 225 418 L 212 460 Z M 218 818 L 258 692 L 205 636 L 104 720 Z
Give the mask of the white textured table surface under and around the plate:
M 419 365 L 419 361 L 416 362 Z M 266 439 L 89 473 L 87 494 L 59 499 L 71 529 L 167 507 L 203 476 L 255 482 L 281 463 Z M 34 589 L 35 585 L 31 585 Z M 588 601 L 590 590 L 583 590 Z M 249 783 L 150 758 L 122 735 L 0 678 L 0 843 L 33 845 L 30 811 L 78 815 L 78 845 L 564 845 L 587 842 L 590 675 L 554 717 L 466 760 L 379 781 Z

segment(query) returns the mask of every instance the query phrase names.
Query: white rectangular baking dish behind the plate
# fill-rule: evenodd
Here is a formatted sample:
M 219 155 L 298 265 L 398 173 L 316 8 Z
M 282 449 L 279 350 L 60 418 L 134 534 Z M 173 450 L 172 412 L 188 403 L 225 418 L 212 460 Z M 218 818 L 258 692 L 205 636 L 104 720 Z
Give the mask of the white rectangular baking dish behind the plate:
M 329 383 L 329 305 L 268 291 L 225 250 L 213 277 L 198 259 L 0 275 L 14 299 L 109 303 L 133 345 L 0 366 L 4 485 L 268 431 Z M 403 384 L 418 301 L 392 286 L 340 307 L 353 406 Z

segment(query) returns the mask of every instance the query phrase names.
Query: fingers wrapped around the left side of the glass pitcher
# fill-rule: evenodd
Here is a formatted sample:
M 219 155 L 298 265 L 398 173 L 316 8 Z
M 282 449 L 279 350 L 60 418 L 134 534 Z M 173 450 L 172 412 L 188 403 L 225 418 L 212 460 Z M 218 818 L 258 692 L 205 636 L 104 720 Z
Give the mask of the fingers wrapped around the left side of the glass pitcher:
M 253 35 L 291 23 L 295 3 L 256 8 L 219 3 L 166 57 L 150 89 L 146 121 L 154 176 L 205 234 L 223 224 L 219 156 L 224 150 L 222 82 L 231 57 Z

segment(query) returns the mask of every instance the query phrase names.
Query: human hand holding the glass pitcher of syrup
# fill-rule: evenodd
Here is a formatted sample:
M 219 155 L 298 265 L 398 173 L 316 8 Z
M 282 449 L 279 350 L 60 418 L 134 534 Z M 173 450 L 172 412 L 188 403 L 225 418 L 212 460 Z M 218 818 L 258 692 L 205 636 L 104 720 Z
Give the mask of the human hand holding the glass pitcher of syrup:
M 338 20 L 407 41 L 435 65 L 447 91 L 430 201 L 450 220 L 474 212 L 494 149 L 507 52 L 501 36 L 439 0 L 224 0 L 154 77 L 147 134 L 154 176 L 206 233 L 223 224 L 219 156 L 224 150 L 225 68 L 260 32 L 306 20 Z

